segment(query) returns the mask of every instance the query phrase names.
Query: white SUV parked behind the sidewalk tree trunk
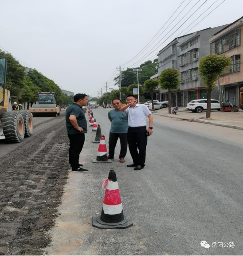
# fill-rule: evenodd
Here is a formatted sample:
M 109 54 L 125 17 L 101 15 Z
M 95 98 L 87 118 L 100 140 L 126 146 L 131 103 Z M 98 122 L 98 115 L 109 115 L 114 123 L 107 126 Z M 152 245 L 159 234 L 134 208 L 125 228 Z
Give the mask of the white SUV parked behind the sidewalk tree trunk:
M 201 100 L 193 100 L 187 104 L 187 110 L 191 110 L 192 112 L 201 113 L 203 110 L 207 109 L 207 99 Z M 220 104 L 217 100 L 211 99 L 211 109 L 217 109 L 220 111 Z

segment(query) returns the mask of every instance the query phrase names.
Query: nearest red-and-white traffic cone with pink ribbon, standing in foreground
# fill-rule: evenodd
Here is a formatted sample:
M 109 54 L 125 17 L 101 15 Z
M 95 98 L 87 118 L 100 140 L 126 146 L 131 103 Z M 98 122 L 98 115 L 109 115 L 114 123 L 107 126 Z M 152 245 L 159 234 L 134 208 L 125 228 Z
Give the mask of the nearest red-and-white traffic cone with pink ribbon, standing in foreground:
M 133 225 L 129 216 L 124 216 L 121 196 L 119 192 L 116 173 L 110 170 L 108 180 L 102 187 L 106 188 L 101 214 L 93 217 L 93 227 L 100 229 L 128 228 Z

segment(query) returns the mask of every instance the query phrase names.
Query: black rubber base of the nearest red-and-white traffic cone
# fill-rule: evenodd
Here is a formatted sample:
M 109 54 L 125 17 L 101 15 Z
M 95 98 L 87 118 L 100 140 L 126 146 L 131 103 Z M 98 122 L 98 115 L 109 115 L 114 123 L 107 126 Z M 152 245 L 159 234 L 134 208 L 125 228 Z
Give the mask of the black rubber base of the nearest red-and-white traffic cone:
M 133 225 L 129 216 L 124 216 L 124 220 L 118 223 L 106 223 L 100 220 L 100 214 L 93 217 L 92 226 L 99 229 L 112 229 L 112 228 L 129 228 Z

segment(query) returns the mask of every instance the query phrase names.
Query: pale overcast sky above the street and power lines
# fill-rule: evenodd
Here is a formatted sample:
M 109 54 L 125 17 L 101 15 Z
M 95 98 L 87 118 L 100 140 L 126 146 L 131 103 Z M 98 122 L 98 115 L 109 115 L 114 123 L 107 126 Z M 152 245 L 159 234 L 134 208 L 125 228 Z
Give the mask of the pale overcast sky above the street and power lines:
M 54 80 L 62 89 L 97 96 L 101 88 L 104 92 L 104 82 L 116 74 L 113 73 L 115 68 L 133 59 L 182 1 L 0 0 L 0 47 Z M 191 12 L 176 25 L 198 1 Z M 155 50 L 205 1 L 185 0 L 161 32 L 179 14 L 177 19 L 156 42 L 123 67 L 135 64 L 171 30 L 154 47 Z M 152 58 L 215 1 L 208 0 L 177 32 L 138 64 Z M 221 2 L 223 0 L 218 0 L 182 34 Z M 187 4 L 184 11 L 181 11 Z M 243 16 L 242 7 L 242 0 L 226 0 L 190 32 L 231 23 Z M 112 79 L 108 88 L 117 88 L 113 86 Z

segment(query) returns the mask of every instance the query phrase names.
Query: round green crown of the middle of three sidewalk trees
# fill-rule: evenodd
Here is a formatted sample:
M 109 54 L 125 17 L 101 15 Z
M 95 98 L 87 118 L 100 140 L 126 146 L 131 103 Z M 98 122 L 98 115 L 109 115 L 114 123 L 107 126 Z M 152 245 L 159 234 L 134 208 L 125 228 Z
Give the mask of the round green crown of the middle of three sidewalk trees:
M 179 74 L 180 72 L 175 68 L 163 70 L 159 75 L 160 88 L 163 90 L 168 90 L 170 93 L 177 90 L 180 83 Z

